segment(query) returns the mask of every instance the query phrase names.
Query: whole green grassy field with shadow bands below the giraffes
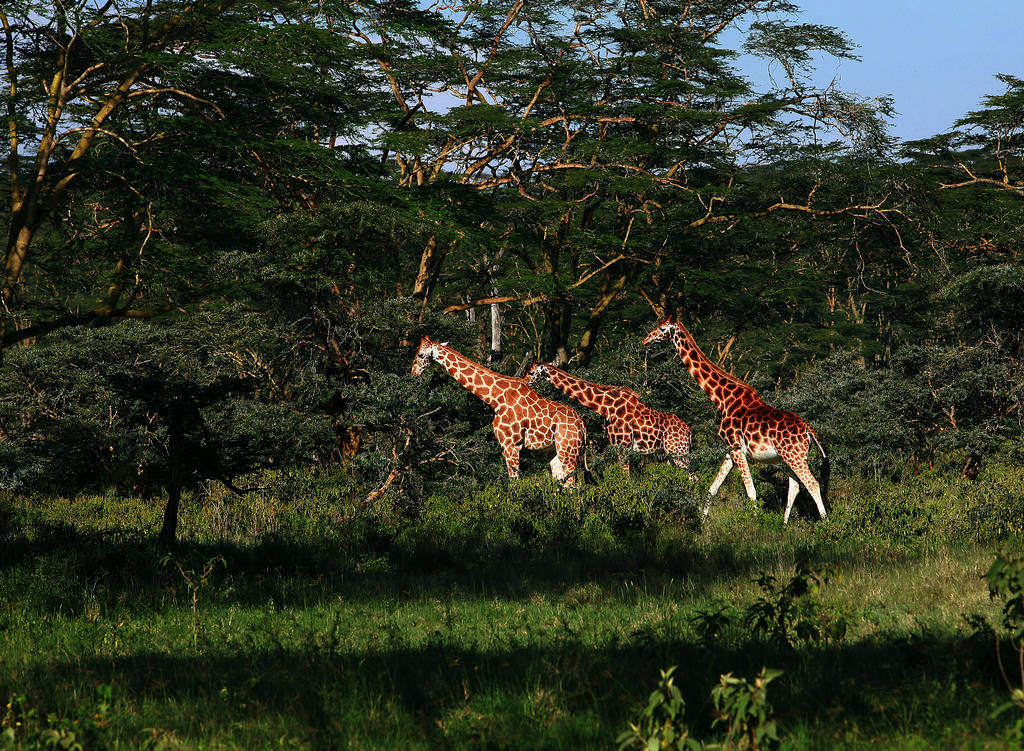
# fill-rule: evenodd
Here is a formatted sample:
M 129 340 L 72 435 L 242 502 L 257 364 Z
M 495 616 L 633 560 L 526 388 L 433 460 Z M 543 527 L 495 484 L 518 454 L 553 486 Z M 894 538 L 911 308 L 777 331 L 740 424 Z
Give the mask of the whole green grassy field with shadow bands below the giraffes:
M 674 468 L 624 487 L 366 507 L 279 478 L 193 499 L 173 549 L 157 502 L 5 498 L 0 747 L 615 748 L 670 666 L 707 742 L 720 676 L 768 667 L 782 748 L 1014 747 L 967 617 L 998 619 L 982 576 L 1019 549 L 1019 470 L 840 477 L 827 520 L 787 529 L 770 484 L 758 513 L 730 484 L 703 529 Z M 801 561 L 821 586 L 773 637 L 755 616 Z

